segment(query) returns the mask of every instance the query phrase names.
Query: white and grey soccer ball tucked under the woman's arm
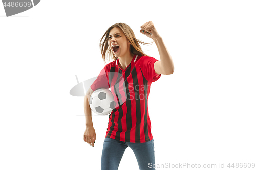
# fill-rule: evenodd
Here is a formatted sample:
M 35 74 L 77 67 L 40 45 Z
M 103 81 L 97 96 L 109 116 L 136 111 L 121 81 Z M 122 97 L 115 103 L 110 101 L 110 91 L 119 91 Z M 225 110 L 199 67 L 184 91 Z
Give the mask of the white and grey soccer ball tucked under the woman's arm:
M 114 96 L 109 89 L 95 90 L 89 100 L 92 111 L 98 115 L 108 115 L 114 109 Z

